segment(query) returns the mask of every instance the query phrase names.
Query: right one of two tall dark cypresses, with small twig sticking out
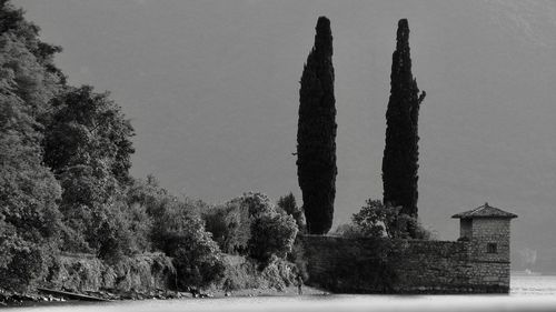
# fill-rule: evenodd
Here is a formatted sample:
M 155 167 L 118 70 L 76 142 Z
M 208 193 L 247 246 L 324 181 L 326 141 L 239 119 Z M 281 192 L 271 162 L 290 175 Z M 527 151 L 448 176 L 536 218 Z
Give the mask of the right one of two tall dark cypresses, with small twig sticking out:
M 398 22 L 396 50 L 393 54 L 390 98 L 386 111 L 386 145 L 383 158 L 384 203 L 401 207 L 400 213 L 417 218 L 417 169 L 419 107 L 426 93 L 419 94 L 411 73 L 409 26 Z M 410 227 L 411 228 L 411 227 Z M 408 229 L 415 236 L 415 229 Z

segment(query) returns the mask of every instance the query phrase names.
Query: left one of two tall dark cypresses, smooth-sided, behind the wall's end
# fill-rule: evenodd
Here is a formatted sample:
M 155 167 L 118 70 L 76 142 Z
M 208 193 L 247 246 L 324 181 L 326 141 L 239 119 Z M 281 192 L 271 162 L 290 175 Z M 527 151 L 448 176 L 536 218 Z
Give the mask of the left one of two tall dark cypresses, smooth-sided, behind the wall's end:
M 320 17 L 301 76 L 297 131 L 297 175 L 307 230 L 324 234 L 332 225 L 336 195 L 336 100 L 334 98 L 332 33 Z

